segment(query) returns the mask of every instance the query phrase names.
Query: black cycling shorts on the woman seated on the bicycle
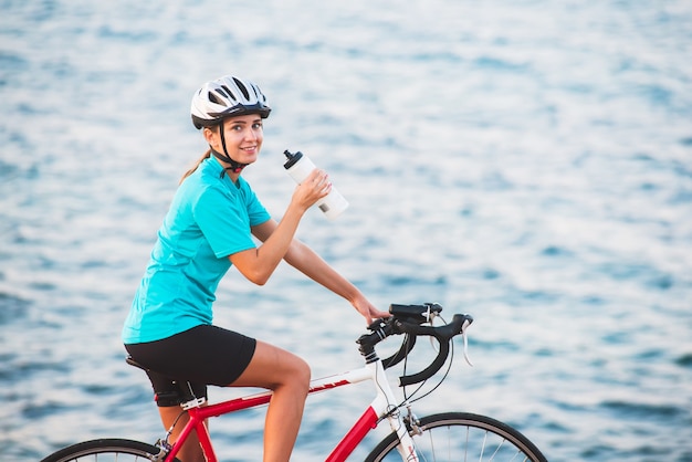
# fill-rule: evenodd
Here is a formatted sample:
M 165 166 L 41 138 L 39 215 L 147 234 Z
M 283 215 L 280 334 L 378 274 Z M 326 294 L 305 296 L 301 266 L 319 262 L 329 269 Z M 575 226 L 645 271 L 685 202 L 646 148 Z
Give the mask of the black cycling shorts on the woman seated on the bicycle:
M 207 398 L 207 386 L 226 387 L 245 370 L 256 340 L 217 326 L 197 326 L 125 349 L 147 369 L 159 407 Z M 188 384 L 189 382 L 189 384 Z

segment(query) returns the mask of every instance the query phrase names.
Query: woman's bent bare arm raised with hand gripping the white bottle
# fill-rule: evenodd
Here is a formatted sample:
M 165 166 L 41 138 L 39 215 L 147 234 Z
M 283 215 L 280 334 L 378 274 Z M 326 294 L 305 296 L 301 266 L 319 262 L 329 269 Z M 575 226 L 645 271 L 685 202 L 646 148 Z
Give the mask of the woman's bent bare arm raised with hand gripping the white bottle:
M 305 211 L 329 193 L 332 183 L 327 175 L 315 169 L 301 183 L 291 203 L 271 235 L 256 249 L 249 249 L 229 256 L 231 263 L 251 282 L 264 285 L 289 251 Z

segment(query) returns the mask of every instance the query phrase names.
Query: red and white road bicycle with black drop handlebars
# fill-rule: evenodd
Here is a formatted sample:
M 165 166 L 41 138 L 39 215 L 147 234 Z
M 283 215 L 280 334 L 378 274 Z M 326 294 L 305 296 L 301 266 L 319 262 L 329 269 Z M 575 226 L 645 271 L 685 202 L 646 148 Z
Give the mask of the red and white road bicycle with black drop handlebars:
M 371 381 L 375 387 L 375 399 L 336 444 L 327 456 L 327 462 L 345 461 L 366 434 L 385 420 L 389 422 L 391 433 L 373 449 L 366 458 L 367 462 L 396 460 L 412 462 L 466 460 L 547 462 L 536 445 L 526 437 L 495 419 L 469 412 L 444 412 L 419 419 L 413 413 L 411 405 L 420 398 L 413 400 L 412 396 L 407 397 L 405 392 L 403 400 L 396 399 L 385 369 L 406 359 L 416 345 L 416 339 L 420 336 L 428 336 L 437 340 L 437 356 L 417 374 L 406 375 L 405 368 L 405 375 L 399 377 L 399 387 L 405 390 L 407 386 L 424 382 L 448 363 L 450 351 L 453 354 L 452 339 L 457 335 L 462 335 L 464 358 L 472 365 L 468 357 L 466 328 L 473 318 L 466 314 L 455 314 L 451 323 L 433 326 L 433 319 L 441 318 L 441 311 L 442 307 L 433 303 L 390 305 L 391 316 L 375 321 L 368 327 L 369 333 L 361 335 L 357 340 L 358 350 L 365 359 L 364 367 L 311 381 L 310 395 L 366 380 Z M 375 351 L 375 346 L 392 335 L 400 334 L 405 336 L 399 349 L 388 358 L 380 359 Z M 141 367 L 130 358 L 128 358 L 128 363 Z M 451 364 L 450 360 L 449 367 Z M 447 372 L 449 372 L 449 368 Z M 434 391 L 447 377 L 447 372 L 439 384 L 424 396 Z M 420 387 L 418 387 L 419 389 Z M 155 444 L 124 439 L 98 439 L 59 450 L 43 459 L 42 462 L 91 460 L 174 462 L 177 461 L 176 455 L 180 445 L 192 431 L 197 432 L 207 460 L 216 462 L 218 459 L 203 423 L 205 420 L 268 405 L 270 398 L 271 391 L 266 391 L 207 405 L 203 398 L 198 399 L 191 396 L 189 401 L 180 405 L 182 407 L 181 412 L 187 411 L 189 413 L 189 421 L 178 440 L 172 444 L 168 442 L 171 428 Z

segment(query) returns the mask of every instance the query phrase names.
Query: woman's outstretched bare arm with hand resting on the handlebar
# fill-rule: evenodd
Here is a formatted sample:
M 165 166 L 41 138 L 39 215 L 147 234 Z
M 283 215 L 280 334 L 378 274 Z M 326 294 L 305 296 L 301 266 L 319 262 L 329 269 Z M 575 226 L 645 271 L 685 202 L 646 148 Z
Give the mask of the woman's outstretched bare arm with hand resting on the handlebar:
M 260 241 L 264 242 L 276 228 L 276 224 L 274 219 L 270 219 L 262 224 L 253 227 L 252 233 Z M 293 239 L 291 242 L 284 260 L 307 277 L 350 302 L 358 313 L 365 317 L 368 325 L 373 323 L 374 318 L 389 316 L 389 313 L 377 309 L 355 285 L 297 239 Z

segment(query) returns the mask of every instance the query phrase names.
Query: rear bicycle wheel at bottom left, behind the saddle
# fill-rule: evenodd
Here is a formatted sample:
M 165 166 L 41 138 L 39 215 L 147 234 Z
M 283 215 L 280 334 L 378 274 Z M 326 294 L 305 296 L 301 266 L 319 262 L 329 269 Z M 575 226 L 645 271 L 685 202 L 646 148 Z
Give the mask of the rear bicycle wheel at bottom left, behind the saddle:
M 158 453 L 159 449 L 151 444 L 109 438 L 63 448 L 41 462 L 150 462 Z

